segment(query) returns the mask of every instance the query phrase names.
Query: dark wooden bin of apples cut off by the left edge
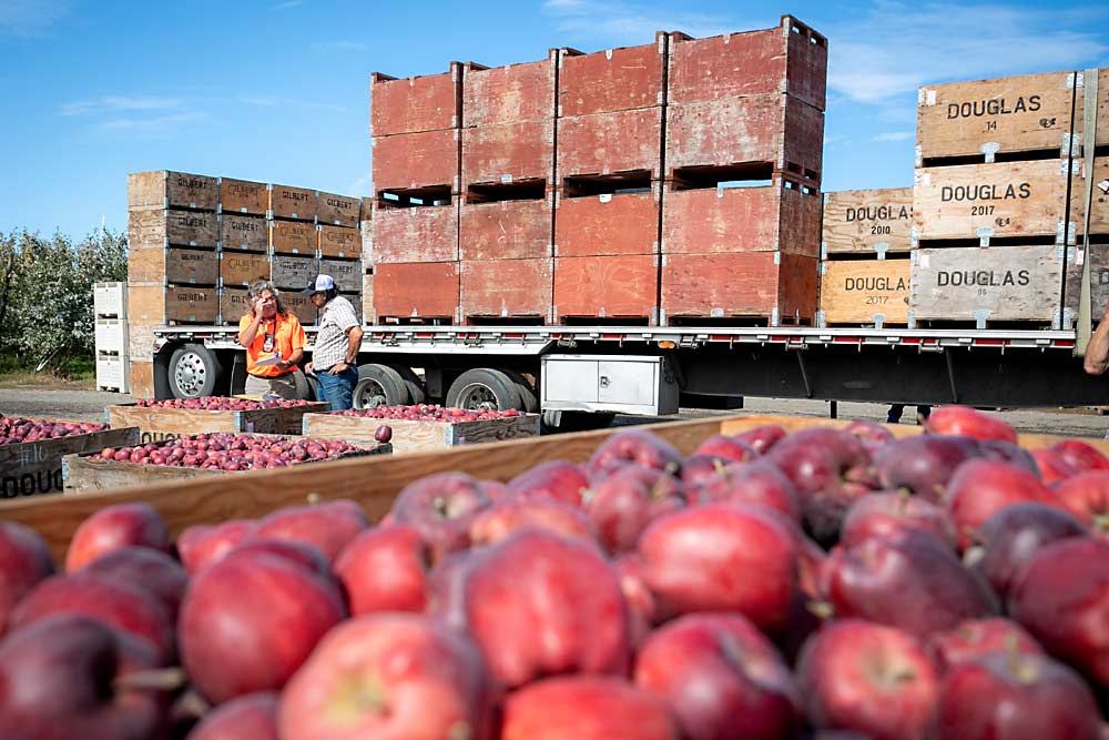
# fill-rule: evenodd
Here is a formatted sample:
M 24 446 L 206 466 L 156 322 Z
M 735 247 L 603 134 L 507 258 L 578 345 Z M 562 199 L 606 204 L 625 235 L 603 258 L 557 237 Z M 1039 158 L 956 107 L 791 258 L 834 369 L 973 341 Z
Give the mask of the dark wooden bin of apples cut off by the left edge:
M 60 491 L 64 455 L 138 442 L 135 427 L 109 429 L 92 422 L 29 419 L 0 414 L 0 497 Z

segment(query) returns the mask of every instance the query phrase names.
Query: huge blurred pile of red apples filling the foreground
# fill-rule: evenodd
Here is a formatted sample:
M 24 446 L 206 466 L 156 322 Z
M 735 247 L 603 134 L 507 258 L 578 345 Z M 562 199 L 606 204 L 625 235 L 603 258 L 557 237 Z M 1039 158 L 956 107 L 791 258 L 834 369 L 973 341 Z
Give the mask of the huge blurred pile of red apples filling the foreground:
M 57 574 L 2 525 L 0 737 L 1099 740 L 1109 459 L 1015 440 L 628 429 L 377 526 L 112 506 Z

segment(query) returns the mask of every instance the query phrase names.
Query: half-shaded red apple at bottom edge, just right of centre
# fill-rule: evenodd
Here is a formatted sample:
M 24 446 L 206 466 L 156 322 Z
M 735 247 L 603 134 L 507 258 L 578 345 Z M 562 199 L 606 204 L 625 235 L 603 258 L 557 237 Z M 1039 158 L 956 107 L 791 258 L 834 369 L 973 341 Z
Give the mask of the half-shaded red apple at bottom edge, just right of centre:
M 635 685 L 663 697 L 686 740 L 791 738 L 796 687 L 777 650 L 744 617 L 689 615 L 657 629 Z

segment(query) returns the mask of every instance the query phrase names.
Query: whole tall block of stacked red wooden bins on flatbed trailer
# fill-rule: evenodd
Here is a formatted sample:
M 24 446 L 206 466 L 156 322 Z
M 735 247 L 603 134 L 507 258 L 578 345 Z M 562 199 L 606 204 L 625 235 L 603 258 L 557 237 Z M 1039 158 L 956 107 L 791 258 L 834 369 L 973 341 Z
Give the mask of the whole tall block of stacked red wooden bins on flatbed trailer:
M 375 74 L 374 317 L 812 323 L 826 62 L 785 16 Z

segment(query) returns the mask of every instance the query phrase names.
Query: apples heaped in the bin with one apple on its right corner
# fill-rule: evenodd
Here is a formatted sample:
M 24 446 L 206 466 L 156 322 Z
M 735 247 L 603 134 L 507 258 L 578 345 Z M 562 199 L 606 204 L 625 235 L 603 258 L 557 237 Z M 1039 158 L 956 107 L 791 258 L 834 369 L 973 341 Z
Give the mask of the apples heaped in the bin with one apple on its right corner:
M 165 465 L 181 468 L 214 468 L 216 470 L 256 470 L 277 468 L 309 460 L 328 460 L 362 447 L 334 439 L 306 437 L 260 436 L 213 432 L 194 434 L 167 442 L 147 443 L 135 447 L 105 447 L 92 458 Z

